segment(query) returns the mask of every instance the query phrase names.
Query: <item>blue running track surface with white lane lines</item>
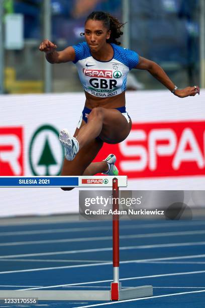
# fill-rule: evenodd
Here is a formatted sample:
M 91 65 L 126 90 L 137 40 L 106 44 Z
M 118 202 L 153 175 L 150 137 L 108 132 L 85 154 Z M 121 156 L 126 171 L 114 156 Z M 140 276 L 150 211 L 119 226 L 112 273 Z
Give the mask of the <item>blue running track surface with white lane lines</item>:
M 120 247 L 122 286 L 151 284 L 152 297 L 36 306 L 205 307 L 204 221 L 120 221 Z M 0 252 L 1 290 L 102 290 L 113 278 L 111 221 L 1 225 Z

